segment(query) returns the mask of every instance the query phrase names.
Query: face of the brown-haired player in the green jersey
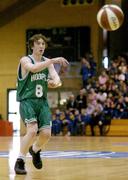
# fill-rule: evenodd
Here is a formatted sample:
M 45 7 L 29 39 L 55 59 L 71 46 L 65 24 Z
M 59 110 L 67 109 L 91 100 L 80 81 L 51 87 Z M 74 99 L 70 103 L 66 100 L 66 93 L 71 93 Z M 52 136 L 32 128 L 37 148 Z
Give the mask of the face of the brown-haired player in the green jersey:
M 38 39 L 37 41 L 34 42 L 33 46 L 33 53 L 38 54 L 38 55 L 43 55 L 44 50 L 45 50 L 46 44 L 43 39 Z

